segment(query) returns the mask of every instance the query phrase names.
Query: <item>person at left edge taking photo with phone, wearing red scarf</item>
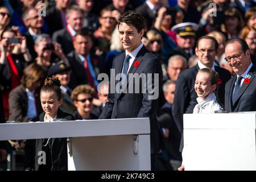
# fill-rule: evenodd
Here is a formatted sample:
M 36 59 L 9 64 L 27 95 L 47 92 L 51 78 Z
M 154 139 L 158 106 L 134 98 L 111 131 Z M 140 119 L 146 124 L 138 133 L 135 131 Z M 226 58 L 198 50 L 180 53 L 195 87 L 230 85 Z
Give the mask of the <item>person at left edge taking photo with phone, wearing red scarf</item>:
M 3 32 L 0 43 L 0 87 L 6 118 L 9 117 L 9 93 L 20 85 L 23 68 L 30 62 L 30 54 L 26 48 L 26 38 L 15 38 L 15 36 L 16 32 L 8 29 Z M 24 52 L 13 53 L 15 46 Z

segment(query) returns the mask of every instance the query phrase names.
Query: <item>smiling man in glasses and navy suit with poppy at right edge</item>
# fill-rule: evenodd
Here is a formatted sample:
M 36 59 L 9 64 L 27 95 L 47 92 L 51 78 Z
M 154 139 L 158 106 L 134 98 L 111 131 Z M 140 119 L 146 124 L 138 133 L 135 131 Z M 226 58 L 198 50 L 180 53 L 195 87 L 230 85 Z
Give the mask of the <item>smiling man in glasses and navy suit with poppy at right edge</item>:
M 225 88 L 225 110 L 256 111 L 256 67 L 251 63 L 245 40 L 233 38 L 226 42 L 225 60 L 237 74 Z

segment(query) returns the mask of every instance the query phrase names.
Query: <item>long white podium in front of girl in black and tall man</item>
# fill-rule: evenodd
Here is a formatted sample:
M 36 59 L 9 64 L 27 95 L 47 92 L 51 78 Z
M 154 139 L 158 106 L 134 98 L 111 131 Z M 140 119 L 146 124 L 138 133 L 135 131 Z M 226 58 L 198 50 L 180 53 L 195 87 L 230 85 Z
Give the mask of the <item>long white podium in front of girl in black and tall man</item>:
M 0 124 L 0 140 L 64 137 L 69 170 L 151 169 L 148 118 Z

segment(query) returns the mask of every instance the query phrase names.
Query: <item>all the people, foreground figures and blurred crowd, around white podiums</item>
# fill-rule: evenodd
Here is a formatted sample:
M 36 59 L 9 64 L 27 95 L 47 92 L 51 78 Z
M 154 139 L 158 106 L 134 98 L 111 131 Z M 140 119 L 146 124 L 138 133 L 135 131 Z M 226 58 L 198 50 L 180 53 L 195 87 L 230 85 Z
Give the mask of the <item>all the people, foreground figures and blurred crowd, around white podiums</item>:
M 184 170 L 183 114 L 256 111 L 255 5 L 0 1 L 0 122 L 148 117 L 151 169 Z M 109 92 L 113 80 L 100 82 L 101 73 L 157 74 L 159 96 L 123 78 L 113 83 L 121 92 Z M 123 92 L 135 84 L 139 93 Z M 64 138 L 9 140 L 0 142 L 0 161 L 24 150 L 26 170 L 67 170 L 65 147 Z M 39 150 L 51 156 L 45 166 Z

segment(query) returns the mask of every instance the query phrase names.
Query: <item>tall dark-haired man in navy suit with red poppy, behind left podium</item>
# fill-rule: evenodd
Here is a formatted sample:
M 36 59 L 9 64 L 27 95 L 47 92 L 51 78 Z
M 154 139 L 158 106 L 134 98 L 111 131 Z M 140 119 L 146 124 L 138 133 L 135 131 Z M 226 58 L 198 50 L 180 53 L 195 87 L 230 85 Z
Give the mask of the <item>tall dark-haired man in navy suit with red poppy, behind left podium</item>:
M 155 169 L 155 154 L 160 150 L 162 139 L 155 117 L 163 78 L 160 60 L 148 51 L 141 41 L 144 34 L 144 20 L 140 14 L 134 11 L 124 13 L 118 19 L 118 32 L 125 52 L 114 58 L 112 68 L 115 73 L 110 78 L 109 101 L 99 119 L 150 118 L 151 169 Z M 120 73 L 124 79 L 114 80 Z M 151 85 L 143 84 L 145 83 L 143 78 L 134 81 L 131 76 L 135 74 L 146 75 Z M 111 89 L 112 82 L 117 89 Z M 148 87 L 153 92 L 150 92 Z M 139 92 L 134 93 L 134 88 L 139 88 Z M 143 92 L 145 90 L 146 92 Z

